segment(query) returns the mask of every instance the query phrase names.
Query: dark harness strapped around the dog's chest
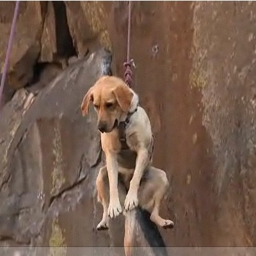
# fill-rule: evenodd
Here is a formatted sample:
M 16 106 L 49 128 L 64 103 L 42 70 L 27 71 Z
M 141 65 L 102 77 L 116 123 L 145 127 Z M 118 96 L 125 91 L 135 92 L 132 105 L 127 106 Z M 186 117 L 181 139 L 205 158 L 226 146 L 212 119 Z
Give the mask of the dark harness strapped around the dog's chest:
M 129 150 L 129 146 L 127 145 L 127 141 L 126 141 L 125 129 L 126 129 L 127 125 L 129 125 L 131 123 L 131 116 L 137 110 L 138 110 L 138 107 L 133 112 L 129 112 L 125 121 L 120 122 L 120 124 L 118 125 L 118 138 L 121 143 L 121 150 Z M 153 154 L 153 150 L 154 150 L 154 141 L 155 141 L 155 138 L 154 138 L 154 135 L 152 134 L 150 147 L 148 148 L 148 152 L 150 154 L 150 160 L 152 159 L 152 154 Z

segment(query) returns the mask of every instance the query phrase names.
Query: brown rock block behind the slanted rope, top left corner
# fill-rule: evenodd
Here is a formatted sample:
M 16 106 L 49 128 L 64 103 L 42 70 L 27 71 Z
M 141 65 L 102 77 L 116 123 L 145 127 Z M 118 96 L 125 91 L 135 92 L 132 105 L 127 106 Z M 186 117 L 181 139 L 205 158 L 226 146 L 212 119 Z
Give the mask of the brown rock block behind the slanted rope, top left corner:
M 0 59 L 1 68 L 6 54 L 12 25 L 15 2 L 1 2 L 0 6 Z M 40 53 L 40 36 L 44 20 L 44 3 L 22 1 L 15 28 L 8 69 L 8 83 L 12 88 L 20 88 L 31 81 L 33 65 Z

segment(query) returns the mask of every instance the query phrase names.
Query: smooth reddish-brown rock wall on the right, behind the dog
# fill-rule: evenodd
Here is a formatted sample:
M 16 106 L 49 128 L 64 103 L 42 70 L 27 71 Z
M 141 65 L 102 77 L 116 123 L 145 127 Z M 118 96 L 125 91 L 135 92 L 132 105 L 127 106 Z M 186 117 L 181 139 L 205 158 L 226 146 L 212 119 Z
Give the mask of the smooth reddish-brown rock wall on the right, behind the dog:
M 128 5 L 103 4 L 123 77 Z M 255 17 L 253 1 L 132 2 L 133 88 L 171 184 L 168 246 L 255 245 Z

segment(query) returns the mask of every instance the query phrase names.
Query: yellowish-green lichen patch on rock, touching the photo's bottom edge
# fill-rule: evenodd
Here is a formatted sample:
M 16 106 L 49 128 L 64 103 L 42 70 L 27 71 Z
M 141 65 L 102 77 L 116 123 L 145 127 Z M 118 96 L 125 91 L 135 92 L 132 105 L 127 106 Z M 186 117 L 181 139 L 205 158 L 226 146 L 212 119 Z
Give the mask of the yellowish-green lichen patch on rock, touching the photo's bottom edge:
M 65 256 L 67 254 L 67 244 L 65 243 L 65 237 L 58 223 L 58 218 L 53 218 L 52 220 L 49 246 L 50 256 Z

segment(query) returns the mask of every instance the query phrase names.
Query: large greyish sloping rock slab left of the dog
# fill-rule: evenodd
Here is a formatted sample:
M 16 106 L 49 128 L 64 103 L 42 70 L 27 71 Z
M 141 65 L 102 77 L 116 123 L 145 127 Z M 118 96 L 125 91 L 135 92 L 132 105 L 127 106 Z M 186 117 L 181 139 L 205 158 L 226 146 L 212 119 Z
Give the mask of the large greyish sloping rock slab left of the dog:
M 72 210 L 81 220 L 76 228 L 81 227 L 81 241 L 88 230 L 86 244 L 109 243 L 108 236 L 91 234 L 92 222 L 100 220 L 93 205 L 101 154 L 95 115 L 83 118 L 80 105 L 88 88 L 108 71 L 110 60 L 106 52 L 94 52 L 37 96 L 18 90 L 1 110 L 0 241 L 6 237 L 8 244 L 49 245 L 57 236 L 51 232 L 54 216 L 60 215 L 61 228 L 66 228 L 61 220 Z

